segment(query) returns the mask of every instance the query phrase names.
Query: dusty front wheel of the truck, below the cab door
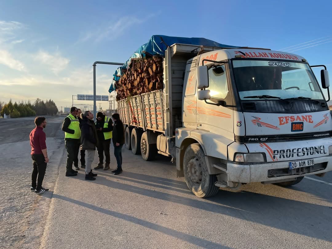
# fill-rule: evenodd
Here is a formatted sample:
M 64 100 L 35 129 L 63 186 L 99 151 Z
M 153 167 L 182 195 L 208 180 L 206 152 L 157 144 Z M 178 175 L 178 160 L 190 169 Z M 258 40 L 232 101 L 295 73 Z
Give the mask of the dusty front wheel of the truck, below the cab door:
M 205 198 L 218 193 L 215 175 L 210 175 L 205 162 L 205 154 L 199 143 L 189 145 L 183 157 L 183 171 L 188 188 L 198 197 Z

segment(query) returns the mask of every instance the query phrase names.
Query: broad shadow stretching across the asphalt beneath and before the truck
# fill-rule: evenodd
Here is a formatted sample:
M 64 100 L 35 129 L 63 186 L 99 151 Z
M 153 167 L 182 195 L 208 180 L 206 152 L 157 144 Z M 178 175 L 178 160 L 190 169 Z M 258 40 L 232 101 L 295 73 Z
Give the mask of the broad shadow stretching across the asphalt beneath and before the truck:
M 182 204 L 188 207 L 195 207 L 213 213 L 225 214 L 332 242 L 330 225 L 326 223 L 332 216 L 331 207 L 247 191 L 229 192 L 220 190 L 214 197 L 200 199 L 195 197 L 182 181 L 132 172 L 124 172 L 119 176 L 114 176 L 108 171 L 98 171 L 97 173 L 99 174 L 98 181 L 94 181 L 95 184 Z M 103 176 L 107 176 L 112 180 Z M 179 195 L 132 186 L 118 182 L 116 179 L 177 191 Z M 183 196 L 183 194 L 186 194 L 186 196 Z M 220 220 L 220 222 L 223 221 Z

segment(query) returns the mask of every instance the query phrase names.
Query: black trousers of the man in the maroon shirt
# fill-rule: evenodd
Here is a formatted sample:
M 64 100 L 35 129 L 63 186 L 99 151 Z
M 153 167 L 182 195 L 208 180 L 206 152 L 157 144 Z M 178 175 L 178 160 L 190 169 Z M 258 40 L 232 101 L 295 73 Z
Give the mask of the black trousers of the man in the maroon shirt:
M 33 154 L 31 155 L 31 158 L 32 158 L 32 164 L 34 166 L 31 176 L 31 186 L 36 188 L 37 190 L 40 190 L 42 181 L 44 180 L 47 163 L 45 163 L 45 158 L 43 154 Z M 37 182 L 37 176 L 38 176 L 38 182 Z

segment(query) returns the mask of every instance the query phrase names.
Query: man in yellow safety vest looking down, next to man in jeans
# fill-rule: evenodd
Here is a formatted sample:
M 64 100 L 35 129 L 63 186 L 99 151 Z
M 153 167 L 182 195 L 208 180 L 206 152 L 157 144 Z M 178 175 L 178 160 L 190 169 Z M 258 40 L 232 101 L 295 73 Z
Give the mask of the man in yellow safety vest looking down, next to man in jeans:
M 111 118 L 106 117 L 102 112 L 97 113 L 96 128 L 99 143 L 97 146 L 99 163 L 95 169 L 102 169 L 104 163 L 104 153 L 105 153 L 105 168 L 104 170 L 110 169 L 110 144 L 112 138 L 113 121 Z

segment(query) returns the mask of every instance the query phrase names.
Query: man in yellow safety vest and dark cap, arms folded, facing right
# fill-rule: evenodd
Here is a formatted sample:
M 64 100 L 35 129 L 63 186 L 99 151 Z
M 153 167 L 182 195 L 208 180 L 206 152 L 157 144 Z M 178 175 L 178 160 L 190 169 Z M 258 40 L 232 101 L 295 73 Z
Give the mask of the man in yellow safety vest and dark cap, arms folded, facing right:
M 66 176 L 77 176 L 78 152 L 81 143 L 80 123 L 77 119 L 78 110 L 76 107 L 70 108 L 70 114 L 64 119 L 62 130 L 64 131 L 64 140 L 67 150 Z M 73 170 L 72 166 L 75 166 Z

